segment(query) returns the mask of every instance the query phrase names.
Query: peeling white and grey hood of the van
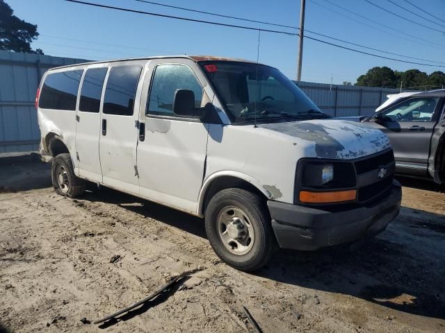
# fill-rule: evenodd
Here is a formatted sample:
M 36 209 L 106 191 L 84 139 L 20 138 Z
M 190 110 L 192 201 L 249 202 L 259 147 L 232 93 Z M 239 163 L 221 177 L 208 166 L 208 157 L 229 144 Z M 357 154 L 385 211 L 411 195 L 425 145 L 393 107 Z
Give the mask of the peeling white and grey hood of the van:
M 353 121 L 323 119 L 257 126 L 295 137 L 293 140 L 297 145 L 314 148 L 314 156 L 320 158 L 353 159 L 390 147 L 389 139 L 382 131 Z

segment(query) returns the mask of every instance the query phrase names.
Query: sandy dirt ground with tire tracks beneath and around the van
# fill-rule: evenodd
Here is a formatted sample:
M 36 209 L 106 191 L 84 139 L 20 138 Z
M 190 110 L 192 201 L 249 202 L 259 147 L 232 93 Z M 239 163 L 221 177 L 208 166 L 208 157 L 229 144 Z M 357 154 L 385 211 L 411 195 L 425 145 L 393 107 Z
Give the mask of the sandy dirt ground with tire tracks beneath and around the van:
M 111 189 L 64 198 L 48 165 L 0 165 L 0 331 L 254 332 L 245 306 L 264 332 L 445 332 L 445 194 L 403 185 L 400 216 L 362 248 L 280 251 L 248 274 L 201 219 Z

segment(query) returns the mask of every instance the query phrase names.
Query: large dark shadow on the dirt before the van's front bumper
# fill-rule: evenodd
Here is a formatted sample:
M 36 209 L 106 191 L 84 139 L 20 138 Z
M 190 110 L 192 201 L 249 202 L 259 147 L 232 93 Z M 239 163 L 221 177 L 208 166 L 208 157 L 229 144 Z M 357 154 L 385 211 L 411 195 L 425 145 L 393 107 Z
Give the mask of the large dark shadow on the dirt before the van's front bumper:
M 406 251 L 406 252 L 405 252 Z M 444 261 L 432 264 L 421 255 L 376 237 L 353 253 L 346 249 L 315 253 L 282 251 L 264 278 L 314 290 L 342 293 L 378 305 L 445 319 Z

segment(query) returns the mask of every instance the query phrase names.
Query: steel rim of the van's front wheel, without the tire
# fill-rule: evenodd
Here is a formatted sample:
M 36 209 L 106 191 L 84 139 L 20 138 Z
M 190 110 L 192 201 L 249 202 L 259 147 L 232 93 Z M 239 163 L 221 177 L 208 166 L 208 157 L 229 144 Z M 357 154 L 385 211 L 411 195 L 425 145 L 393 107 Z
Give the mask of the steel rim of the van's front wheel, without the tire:
M 234 255 L 245 255 L 252 250 L 255 234 L 248 215 L 239 207 L 227 206 L 216 219 L 218 235 L 225 248 Z

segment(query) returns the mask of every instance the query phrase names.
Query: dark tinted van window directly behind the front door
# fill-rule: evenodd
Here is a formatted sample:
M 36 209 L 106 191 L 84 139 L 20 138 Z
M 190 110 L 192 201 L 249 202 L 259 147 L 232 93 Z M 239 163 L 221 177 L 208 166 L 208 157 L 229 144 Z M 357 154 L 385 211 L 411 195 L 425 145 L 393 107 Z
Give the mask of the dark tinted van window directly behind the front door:
M 141 66 L 118 66 L 110 70 L 104 97 L 104 113 L 131 116 Z

